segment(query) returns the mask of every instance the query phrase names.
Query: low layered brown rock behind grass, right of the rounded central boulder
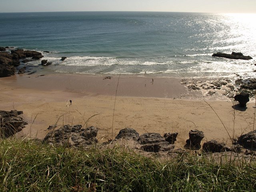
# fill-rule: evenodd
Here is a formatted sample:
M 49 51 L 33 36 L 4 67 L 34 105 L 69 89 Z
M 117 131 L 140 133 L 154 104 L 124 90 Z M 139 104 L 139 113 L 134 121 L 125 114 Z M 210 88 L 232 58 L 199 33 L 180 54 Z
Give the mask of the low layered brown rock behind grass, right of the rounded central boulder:
M 141 149 L 146 152 L 169 151 L 174 145 L 169 144 L 159 133 L 144 133 L 138 139 Z

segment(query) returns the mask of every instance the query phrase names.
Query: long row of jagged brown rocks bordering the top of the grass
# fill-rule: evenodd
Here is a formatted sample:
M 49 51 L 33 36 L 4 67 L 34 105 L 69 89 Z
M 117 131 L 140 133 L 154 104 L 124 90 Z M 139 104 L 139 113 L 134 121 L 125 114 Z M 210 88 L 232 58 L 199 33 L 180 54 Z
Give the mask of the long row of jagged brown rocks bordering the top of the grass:
M 200 152 L 234 152 L 244 156 L 251 156 L 251 158 L 256 160 L 256 131 L 248 132 L 238 138 L 232 139 L 232 146 L 226 146 L 222 142 L 210 140 L 208 142 L 204 142 L 201 147 L 201 141 L 204 138 L 204 133 L 199 130 L 191 130 L 189 132 L 189 138 L 186 140 L 186 145 L 183 149 L 176 149 L 174 145 L 178 133 L 166 133 L 164 136 L 161 136 L 158 133 L 144 133 L 139 135 L 139 133 L 133 128 L 124 128 L 120 130 L 114 140 L 109 140 L 108 142 L 99 144 L 96 139 L 97 132 L 98 128 L 95 128 L 94 126 L 90 126 L 85 129 L 82 125 L 64 125 L 61 128 L 50 131 L 42 142 L 52 146 L 85 148 L 91 147 L 94 144 L 104 147 L 110 144 L 115 145 L 116 142 L 119 142 L 130 143 L 135 146 L 136 150 L 159 154 L 161 156 L 186 154 L 188 151 L 196 151 L 198 154 L 200 154 Z M 124 142 L 124 140 L 126 140 L 126 142 Z

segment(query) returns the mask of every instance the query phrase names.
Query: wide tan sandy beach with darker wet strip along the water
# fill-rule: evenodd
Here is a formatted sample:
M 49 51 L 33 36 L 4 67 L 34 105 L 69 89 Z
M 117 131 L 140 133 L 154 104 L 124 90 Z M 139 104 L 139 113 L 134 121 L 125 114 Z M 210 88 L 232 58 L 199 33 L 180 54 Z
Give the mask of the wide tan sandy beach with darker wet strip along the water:
M 178 132 L 175 146 L 182 148 L 193 129 L 204 132 L 203 142 L 214 139 L 226 144 L 233 130 L 235 138 L 252 130 L 254 100 L 246 110 L 234 110 L 237 103 L 229 98 L 207 97 L 180 82 L 152 81 L 150 76 L 16 75 L 0 78 L 0 110 L 23 111 L 28 125 L 16 136 L 27 138 L 43 139 L 50 125 L 82 124 L 97 127 L 97 139 L 104 142 L 130 127 L 139 134 Z

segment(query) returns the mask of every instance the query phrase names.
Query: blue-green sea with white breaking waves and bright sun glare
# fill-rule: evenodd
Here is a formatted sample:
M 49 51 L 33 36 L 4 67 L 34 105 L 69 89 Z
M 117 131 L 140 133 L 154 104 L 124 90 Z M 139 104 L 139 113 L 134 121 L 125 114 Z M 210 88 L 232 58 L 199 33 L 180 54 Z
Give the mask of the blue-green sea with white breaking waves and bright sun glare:
M 50 51 L 43 53 L 53 63 L 44 67 L 48 73 L 256 77 L 255 20 L 256 14 L 0 13 L 0 46 Z M 233 51 L 253 60 L 212 57 Z

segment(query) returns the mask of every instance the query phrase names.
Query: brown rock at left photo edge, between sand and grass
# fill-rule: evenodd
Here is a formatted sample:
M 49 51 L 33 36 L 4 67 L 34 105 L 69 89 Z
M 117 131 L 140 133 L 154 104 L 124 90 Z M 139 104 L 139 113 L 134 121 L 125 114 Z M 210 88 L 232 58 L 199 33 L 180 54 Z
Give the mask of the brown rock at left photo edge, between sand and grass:
M 7 138 L 21 131 L 28 123 L 20 116 L 22 111 L 0 110 L 0 137 Z

